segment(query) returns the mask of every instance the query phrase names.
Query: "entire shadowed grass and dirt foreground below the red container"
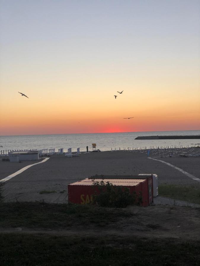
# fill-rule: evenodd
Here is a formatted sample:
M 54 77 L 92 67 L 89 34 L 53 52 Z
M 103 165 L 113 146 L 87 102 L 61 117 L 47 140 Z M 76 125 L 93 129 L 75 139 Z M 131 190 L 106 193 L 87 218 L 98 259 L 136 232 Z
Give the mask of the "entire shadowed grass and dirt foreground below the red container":
M 1 203 L 0 265 L 199 265 L 200 209 Z

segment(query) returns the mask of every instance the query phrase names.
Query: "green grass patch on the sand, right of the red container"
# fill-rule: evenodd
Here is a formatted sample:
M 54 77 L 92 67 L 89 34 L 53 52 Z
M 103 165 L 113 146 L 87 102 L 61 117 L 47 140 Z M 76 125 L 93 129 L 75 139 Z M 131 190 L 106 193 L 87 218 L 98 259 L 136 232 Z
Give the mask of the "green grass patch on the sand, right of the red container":
M 158 189 L 159 196 L 200 204 L 199 185 L 160 184 Z

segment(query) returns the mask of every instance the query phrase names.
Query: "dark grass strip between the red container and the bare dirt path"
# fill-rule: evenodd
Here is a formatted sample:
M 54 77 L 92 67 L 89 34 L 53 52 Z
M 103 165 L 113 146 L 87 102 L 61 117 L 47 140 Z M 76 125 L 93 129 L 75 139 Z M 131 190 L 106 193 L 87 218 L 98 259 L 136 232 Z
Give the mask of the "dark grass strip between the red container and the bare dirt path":
M 132 217 L 133 211 L 93 205 L 47 204 L 45 202 L 0 203 L 0 227 L 76 228 L 105 226 Z

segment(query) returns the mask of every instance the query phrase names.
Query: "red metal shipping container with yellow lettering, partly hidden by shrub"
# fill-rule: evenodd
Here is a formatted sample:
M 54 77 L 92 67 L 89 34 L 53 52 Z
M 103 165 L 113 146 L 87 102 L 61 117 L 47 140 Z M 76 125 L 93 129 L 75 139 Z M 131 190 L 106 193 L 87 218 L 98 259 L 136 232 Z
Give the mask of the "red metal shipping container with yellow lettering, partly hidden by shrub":
M 132 194 L 134 191 L 137 195 L 142 196 L 142 206 L 148 206 L 153 202 L 152 194 L 149 194 L 147 179 L 102 179 L 95 178 L 95 181 L 109 182 L 115 186 L 127 187 Z M 76 204 L 88 204 L 92 201 L 92 195 L 97 191 L 91 178 L 87 178 L 72 184 L 68 184 L 68 202 Z M 152 190 L 151 190 L 152 193 Z

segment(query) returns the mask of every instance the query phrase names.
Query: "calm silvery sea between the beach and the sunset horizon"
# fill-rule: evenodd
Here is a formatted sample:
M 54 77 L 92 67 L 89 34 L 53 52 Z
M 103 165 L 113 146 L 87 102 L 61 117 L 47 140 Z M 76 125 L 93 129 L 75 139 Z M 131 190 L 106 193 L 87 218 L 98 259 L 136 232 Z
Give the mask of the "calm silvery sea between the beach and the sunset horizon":
M 44 149 L 55 148 L 56 151 L 64 148 L 80 147 L 80 151 L 85 151 L 86 146 L 92 150 L 92 143 L 97 144 L 97 149 L 101 151 L 113 149 L 123 149 L 123 147 L 156 147 L 171 145 L 189 145 L 199 143 L 198 139 L 188 140 L 135 140 L 138 136 L 157 135 L 199 135 L 200 130 L 194 131 L 159 131 L 159 132 L 126 132 L 126 133 L 91 133 L 91 134 L 54 134 L 54 135 L 21 135 L 21 136 L 0 136 L 0 145 L 3 150 L 22 149 Z

